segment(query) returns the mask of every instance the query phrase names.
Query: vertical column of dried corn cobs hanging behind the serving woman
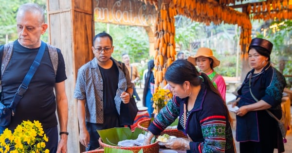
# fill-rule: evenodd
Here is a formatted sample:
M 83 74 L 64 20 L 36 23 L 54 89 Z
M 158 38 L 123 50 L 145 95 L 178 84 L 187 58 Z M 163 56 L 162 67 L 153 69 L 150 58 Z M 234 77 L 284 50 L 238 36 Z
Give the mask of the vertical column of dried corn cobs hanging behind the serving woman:
M 162 3 L 158 12 L 155 23 L 155 52 L 154 52 L 154 71 L 155 87 L 154 93 L 158 86 L 165 85 L 164 74 L 166 68 L 175 61 L 175 18 L 177 15 L 173 2 Z

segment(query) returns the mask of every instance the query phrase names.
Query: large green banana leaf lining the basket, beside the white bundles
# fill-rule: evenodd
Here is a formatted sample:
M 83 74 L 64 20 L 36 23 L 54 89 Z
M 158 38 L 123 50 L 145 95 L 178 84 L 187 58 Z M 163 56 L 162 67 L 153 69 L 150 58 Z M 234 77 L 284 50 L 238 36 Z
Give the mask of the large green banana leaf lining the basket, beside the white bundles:
M 137 139 L 139 134 L 143 133 L 142 129 L 136 128 L 134 132 L 128 127 L 110 128 L 104 130 L 96 130 L 102 141 L 111 146 L 117 146 L 119 141 L 127 139 Z

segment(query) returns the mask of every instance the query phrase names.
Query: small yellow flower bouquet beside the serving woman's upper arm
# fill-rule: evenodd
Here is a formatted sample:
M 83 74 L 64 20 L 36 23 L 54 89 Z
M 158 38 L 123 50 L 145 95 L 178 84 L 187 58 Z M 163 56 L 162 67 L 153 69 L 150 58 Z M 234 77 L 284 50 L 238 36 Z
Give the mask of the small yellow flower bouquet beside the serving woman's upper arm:
M 153 94 L 153 108 L 154 114 L 159 113 L 159 111 L 166 105 L 166 103 L 172 98 L 172 93 L 168 89 L 159 88 L 156 93 Z

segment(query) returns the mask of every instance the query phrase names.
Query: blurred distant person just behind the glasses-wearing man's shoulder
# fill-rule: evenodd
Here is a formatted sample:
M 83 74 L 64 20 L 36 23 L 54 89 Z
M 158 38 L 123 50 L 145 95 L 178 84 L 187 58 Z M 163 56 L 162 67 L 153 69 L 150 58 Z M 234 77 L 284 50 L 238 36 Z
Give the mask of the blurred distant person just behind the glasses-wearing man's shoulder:
M 140 80 L 140 74 L 139 74 L 139 71 L 137 69 L 137 67 L 133 66 L 130 64 L 130 57 L 128 54 L 124 53 L 122 55 L 122 60 L 123 62 L 125 63 L 126 67 L 128 68 L 128 71 L 130 73 L 130 79 L 131 79 L 131 82 L 133 83 L 133 95 L 136 96 L 136 100 L 137 101 L 140 101 L 140 97 L 136 91 L 136 88 L 135 88 L 135 84 Z

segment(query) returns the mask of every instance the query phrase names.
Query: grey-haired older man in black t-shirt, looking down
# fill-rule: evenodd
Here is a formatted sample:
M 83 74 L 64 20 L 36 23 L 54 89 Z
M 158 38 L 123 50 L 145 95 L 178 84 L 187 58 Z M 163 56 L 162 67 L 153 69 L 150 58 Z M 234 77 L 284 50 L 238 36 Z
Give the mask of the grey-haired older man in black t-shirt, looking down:
M 11 59 L 7 68 L 4 72 L 2 71 L 1 102 L 4 105 L 12 102 L 19 85 L 37 56 L 42 42 L 40 36 L 48 28 L 48 24 L 45 23 L 44 10 L 35 3 L 20 5 L 16 22 L 18 39 L 12 42 Z M 38 120 L 44 134 L 49 138 L 45 149 L 49 149 L 50 153 L 67 153 L 68 100 L 65 91 L 65 80 L 67 79 L 65 62 L 61 51 L 53 46 L 50 47 L 56 49 L 58 59 L 50 57 L 46 45 L 40 65 L 28 85 L 27 91 L 16 106 L 11 123 L 7 127 L 0 127 L 0 134 L 5 128 L 14 131 L 22 121 Z M 0 51 L 3 52 L 3 45 L 0 46 Z M 2 58 L 2 53 L 0 58 Z M 58 61 L 56 73 L 51 60 Z M 2 60 L 2 64 L 3 62 Z M 56 110 L 60 128 L 59 142 Z

